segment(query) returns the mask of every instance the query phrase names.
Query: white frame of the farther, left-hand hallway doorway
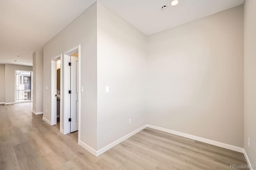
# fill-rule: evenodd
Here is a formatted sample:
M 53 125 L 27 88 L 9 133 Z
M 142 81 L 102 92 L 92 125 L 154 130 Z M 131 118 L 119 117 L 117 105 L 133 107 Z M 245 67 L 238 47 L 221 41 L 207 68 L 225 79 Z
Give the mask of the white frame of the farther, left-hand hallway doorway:
M 56 73 L 56 63 L 57 60 L 60 59 L 60 94 L 62 92 L 62 54 L 57 55 L 55 57 L 52 57 L 51 59 L 51 72 L 52 72 L 52 86 L 51 86 L 51 104 L 52 104 L 52 108 L 51 108 L 51 115 L 52 115 L 52 119 L 51 119 L 51 125 L 56 125 L 57 124 L 57 100 L 55 95 L 57 94 L 57 73 Z M 62 95 L 60 96 L 60 132 L 64 133 L 64 130 L 62 129 Z

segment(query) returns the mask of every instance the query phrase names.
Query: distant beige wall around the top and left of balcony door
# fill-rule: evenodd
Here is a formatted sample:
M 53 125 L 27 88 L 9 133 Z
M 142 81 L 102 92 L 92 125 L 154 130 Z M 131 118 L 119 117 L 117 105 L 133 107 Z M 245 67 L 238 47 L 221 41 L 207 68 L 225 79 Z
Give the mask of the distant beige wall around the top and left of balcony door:
M 15 70 L 32 71 L 31 66 L 5 64 L 5 103 L 15 103 Z

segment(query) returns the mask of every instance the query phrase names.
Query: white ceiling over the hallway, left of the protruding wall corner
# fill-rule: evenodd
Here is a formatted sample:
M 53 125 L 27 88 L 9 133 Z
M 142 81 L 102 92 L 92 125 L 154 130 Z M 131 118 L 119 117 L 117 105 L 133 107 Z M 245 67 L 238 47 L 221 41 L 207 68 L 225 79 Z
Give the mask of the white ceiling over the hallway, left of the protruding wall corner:
M 42 49 L 94 2 L 0 0 L 0 63 L 32 65 L 33 52 Z M 21 53 L 21 50 L 26 50 L 26 53 Z

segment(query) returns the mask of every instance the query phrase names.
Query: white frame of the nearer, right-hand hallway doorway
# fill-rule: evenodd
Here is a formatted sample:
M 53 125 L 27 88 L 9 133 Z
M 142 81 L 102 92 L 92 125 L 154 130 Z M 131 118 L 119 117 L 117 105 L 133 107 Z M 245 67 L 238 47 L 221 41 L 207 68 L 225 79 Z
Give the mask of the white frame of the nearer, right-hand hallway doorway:
M 71 49 L 69 49 L 68 51 L 64 52 L 64 65 L 63 65 L 63 70 L 64 70 L 64 77 L 63 77 L 63 81 L 64 81 L 64 87 L 63 87 L 63 91 L 62 94 L 64 96 L 64 103 L 67 103 L 67 99 L 69 97 L 68 95 L 68 57 L 70 57 L 70 55 L 74 54 L 78 52 L 78 144 L 80 143 L 80 96 L 81 96 L 81 86 L 80 86 L 80 56 L 81 56 L 81 52 L 80 52 L 80 45 L 77 45 L 76 47 L 73 47 Z M 67 105 L 64 105 L 63 107 L 64 109 L 64 134 L 70 133 L 70 123 L 68 122 L 68 118 L 70 117 L 70 112 L 67 109 Z

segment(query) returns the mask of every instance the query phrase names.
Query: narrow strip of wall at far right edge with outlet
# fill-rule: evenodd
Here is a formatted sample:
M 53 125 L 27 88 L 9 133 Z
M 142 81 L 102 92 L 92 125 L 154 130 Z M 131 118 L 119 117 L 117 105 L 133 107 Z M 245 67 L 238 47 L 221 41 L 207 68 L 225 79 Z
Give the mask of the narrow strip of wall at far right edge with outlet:
M 256 1 L 244 3 L 244 149 L 256 165 Z M 248 147 L 248 138 L 251 146 Z

